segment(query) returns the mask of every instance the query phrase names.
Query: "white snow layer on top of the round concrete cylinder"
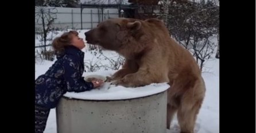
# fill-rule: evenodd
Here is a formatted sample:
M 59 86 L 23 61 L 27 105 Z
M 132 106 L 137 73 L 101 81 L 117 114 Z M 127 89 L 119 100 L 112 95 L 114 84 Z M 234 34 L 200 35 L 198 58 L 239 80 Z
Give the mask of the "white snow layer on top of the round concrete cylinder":
M 110 76 L 115 71 L 99 71 L 99 72 L 87 72 L 84 76 L 89 75 L 102 75 Z M 99 89 L 92 89 L 86 92 L 67 92 L 64 94 L 65 97 L 70 99 L 81 99 L 81 100 L 126 100 L 135 99 L 139 97 L 145 97 L 161 93 L 166 91 L 170 86 L 167 83 L 152 83 L 144 87 L 137 88 L 126 88 L 122 86 L 110 85 L 110 83 L 104 83 Z

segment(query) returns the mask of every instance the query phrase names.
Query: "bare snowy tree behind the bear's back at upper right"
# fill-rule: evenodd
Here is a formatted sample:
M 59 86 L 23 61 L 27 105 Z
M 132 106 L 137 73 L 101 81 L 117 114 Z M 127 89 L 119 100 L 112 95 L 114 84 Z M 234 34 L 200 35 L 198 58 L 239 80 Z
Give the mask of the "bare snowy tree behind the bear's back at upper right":
M 159 17 L 165 20 L 171 36 L 192 52 L 202 70 L 205 60 L 212 57 L 216 48 L 211 38 L 219 38 L 219 6 L 211 1 L 173 0 L 164 4 Z

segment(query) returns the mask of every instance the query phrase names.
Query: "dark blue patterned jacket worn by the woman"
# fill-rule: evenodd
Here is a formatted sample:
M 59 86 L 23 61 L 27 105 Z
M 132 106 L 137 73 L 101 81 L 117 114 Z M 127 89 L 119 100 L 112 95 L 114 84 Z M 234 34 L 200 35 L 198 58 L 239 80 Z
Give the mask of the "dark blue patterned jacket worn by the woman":
M 55 108 L 60 97 L 68 92 L 84 92 L 94 88 L 84 81 L 84 52 L 75 46 L 68 46 L 49 70 L 36 79 L 36 105 Z

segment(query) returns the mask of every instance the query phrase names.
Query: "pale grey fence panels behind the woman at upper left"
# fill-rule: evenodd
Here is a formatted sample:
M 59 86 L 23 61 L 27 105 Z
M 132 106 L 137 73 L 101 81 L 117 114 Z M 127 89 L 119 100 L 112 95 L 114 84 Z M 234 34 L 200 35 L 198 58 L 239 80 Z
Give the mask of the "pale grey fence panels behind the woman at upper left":
M 42 30 L 42 17 L 45 26 L 53 18 L 51 26 L 56 29 L 92 29 L 108 18 L 119 17 L 118 9 L 83 9 L 65 7 L 36 7 L 35 26 Z M 81 17 L 82 16 L 82 17 Z

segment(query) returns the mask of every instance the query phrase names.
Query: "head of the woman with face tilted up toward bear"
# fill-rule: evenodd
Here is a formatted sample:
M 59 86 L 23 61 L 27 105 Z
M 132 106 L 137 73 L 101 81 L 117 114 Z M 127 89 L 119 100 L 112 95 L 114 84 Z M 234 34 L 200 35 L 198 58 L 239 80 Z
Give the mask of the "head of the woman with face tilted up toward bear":
M 78 32 L 75 30 L 63 33 L 60 37 L 56 37 L 52 42 L 53 49 L 55 49 L 57 54 L 63 53 L 65 47 L 71 45 L 79 49 L 83 49 L 86 46 L 83 38 L 79 38 Z

